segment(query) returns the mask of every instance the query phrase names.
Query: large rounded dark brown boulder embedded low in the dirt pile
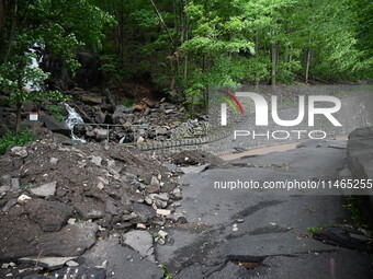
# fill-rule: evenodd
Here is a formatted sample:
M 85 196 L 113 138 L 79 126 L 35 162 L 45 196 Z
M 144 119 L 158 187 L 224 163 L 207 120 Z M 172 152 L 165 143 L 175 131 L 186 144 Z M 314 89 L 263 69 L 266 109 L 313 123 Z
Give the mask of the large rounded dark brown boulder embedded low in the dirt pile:
M 25 212 L 44 232 L 57 232 L 67 223 L 74 210 L 60 201 L 35 199 L 26 204 Z

